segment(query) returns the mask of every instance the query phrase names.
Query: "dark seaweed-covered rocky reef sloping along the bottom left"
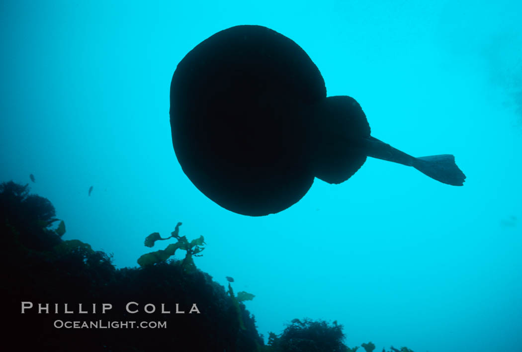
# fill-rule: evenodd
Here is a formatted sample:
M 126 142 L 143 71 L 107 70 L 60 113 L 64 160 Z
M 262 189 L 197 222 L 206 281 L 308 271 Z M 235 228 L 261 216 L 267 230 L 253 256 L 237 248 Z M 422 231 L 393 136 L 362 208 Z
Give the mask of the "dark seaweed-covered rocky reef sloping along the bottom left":
M 234 294 L 198 269 L 193 257 L 203 236 L 158 232 L 144 244 L 175 239 L 164 250 L 142 255 L 139 267 L 116 268 L 112 254 L 88 243 L 63 240 L 65 221 L 29 185 L 0 184 L 2 294 L 7 307 L 6 346 L 43 351 L 354 352 L 336 321 L 294 319 L 284 331 L 257 332 L 243 304 L 255 296 Z M 173 259 L 184 250 L 183 260 Z M 16 338 L 15 338 L 16 336 Z M 19 338 L 26 336 L 26 338 Z M 361 345 L 372 352 L 372 342 Z M 407 347 L 392 351 L 413 352 Z M 383 352 L 385 349 L 383 348 Z

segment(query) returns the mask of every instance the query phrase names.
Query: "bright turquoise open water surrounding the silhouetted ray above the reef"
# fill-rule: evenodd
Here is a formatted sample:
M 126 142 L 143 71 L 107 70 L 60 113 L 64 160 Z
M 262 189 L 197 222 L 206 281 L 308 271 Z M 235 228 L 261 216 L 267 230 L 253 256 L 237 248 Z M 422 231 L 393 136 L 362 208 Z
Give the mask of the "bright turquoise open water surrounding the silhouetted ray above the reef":
M 245 305 L 265 342 L 308 317 L 377 351 L 517 351 L 521 15 L 515 1 L 3 1 L 0 181 L 30 183 L 64 219 L 64 240 L 113 253 L 119 268 L 150 252 L 148 234 L 183 222 L 207 243 L 196 266 L 255 295 Z M 369 158 L 275 215 L 210 201 L 176 160 L 170 81 L 195 45 L 243 24 L 298 43 L 375 137 L 454 154 L 465 185 Z

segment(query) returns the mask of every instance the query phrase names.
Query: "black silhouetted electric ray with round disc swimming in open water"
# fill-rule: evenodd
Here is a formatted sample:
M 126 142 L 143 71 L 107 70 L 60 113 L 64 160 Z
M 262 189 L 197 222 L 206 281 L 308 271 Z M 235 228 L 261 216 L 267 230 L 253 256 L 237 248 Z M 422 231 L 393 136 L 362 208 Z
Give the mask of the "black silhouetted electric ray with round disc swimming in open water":
M 314 178 L 348 180 L 373 157 L 451 185 L 453 155 L 414 158 L 370 135 L 355 99 L 326 97 L 310 57 L 262 26 L 236 26 L 198 44 L 170 89 L 172 144 L 196 187 L 232 212 L 263 216 L 298 202 Z

